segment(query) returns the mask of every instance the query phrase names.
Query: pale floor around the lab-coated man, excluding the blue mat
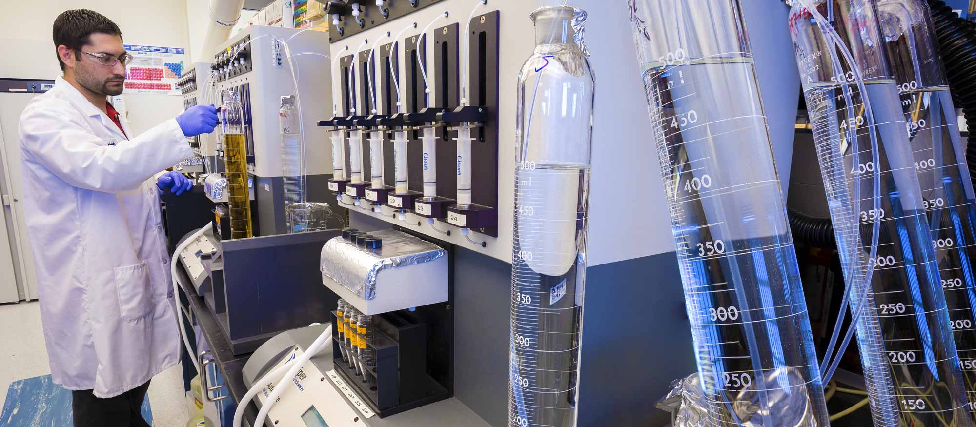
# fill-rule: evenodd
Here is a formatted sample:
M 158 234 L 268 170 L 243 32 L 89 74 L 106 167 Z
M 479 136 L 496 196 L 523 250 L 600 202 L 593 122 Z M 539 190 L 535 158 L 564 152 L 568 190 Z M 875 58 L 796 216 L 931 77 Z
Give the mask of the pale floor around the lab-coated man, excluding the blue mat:
M 0 304 L 0 407 L 12 381 L 51 373 L 36 301 Z M 186 425 L 186 399 L 179 366 L 152 378 L 149 403 L 155 427 Z M 24 426 L 28 427 L 28 426 Z

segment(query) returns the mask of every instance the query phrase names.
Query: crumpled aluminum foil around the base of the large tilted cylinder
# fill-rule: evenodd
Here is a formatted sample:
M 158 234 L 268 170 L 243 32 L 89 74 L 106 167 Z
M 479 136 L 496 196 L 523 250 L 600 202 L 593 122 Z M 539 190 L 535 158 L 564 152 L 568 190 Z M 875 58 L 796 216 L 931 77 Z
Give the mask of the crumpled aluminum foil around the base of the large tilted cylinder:
M 797 369 L 767 370 L 764 378 L 752 379 L 749 386 L 728 393 L 727 400 L 735 404 L 728 407 L 732 412 L 726 412 L 726 416 L 747 427 L 762 427 L 771 419 L 778 425 L 820 425 L 806 387 L 797 386 L 805 383 Z M 673 427 L 711 427 L 714 415 L 710 415 L 709 408 L 712 405 L 702 391 L 698 373 L 675 379 L 671 392 L 657 403 L 658 408 L 671 412 Z

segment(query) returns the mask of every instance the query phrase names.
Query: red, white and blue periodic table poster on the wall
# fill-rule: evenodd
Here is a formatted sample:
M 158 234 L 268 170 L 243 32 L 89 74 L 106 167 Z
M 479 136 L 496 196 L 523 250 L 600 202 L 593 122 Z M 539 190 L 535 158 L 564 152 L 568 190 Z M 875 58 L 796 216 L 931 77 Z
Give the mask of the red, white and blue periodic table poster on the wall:
M 124 94 L 181 95 L 177 80 L 183 75 L 183 48 L 125 45 L 133 56 L 126 70 Z

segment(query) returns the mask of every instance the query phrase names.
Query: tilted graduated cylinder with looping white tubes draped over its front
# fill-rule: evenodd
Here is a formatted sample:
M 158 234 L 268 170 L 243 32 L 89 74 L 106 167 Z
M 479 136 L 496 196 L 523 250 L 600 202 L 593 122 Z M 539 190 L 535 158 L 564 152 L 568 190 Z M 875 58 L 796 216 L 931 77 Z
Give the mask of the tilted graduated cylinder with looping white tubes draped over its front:
M 874 425 L 970 426 L 950 315 L 942 291 L 933 239 L 926 221 L 922 187 L 895 78 L 872 0 L 814 2 L 828 17 L 851 52 L 867 94 L 852 82 L 851 65 L 834 63 L 833 41 L 825 40 L 810 12 L 793 5 L 793 45 L 813 126 L 814 143 L 828 188 L 834 223 L 858 224 L 837 233 L 841 259 L 849 248 L 870 239 L 871 224 L 880 234 L 871 283 L 854 285 L 850 305 L 864 307 L 856 330 Z M 850 88 L 845 91 L 845 87 Z M 845 93 L 851 95 L 844 95 Z M 867 97 L 878 138 L 875 165 L 870 128 L 863 103 Z M 931 152 L 931 141 L 928 142 Z M 852 159 L 852 147 L 861 153 Z M 844 194 L 874 193 L 880 176 L 880 205 L 867 209 L 844 200 Z M 857 217 L 851 217 L 854 207 Z M 845 267 L 846 270 L 846 267 Z M 845 279 L 846 277 L 845 271 Z M 864 289 L 864 287 L 870 287 Z

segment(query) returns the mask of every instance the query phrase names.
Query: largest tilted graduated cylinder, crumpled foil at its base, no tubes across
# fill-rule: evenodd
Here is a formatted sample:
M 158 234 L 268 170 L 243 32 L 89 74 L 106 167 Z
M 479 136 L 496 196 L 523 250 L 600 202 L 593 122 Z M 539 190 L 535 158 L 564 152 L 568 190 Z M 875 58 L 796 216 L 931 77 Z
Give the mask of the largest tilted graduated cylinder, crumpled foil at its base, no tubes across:
M 712 426 L 829 425 L 735 0 L 630 0 Z

